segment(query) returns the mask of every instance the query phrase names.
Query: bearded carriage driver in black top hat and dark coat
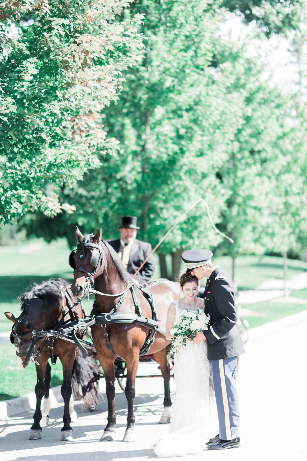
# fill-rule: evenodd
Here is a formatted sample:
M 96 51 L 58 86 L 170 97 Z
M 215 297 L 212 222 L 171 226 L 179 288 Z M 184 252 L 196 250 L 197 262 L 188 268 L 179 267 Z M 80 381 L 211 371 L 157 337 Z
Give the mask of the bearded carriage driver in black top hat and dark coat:
M 111 247 L 113 247 L 121 258 L 123 265 L 133 275 L 139 266 L 145 261 L 147 256 L 151 253 L 151 244 L 137 240 L 136 233 L 139 227 L 137 218 L 135 216 L 123 216 L 122 224 L 119 226 L 121 238 L 117 240 L 110 240 Z M 155 264 L 152 256 L 145 262 L 144 266 L 135 276 L 139 284 L 145 284 L 155 272 Z

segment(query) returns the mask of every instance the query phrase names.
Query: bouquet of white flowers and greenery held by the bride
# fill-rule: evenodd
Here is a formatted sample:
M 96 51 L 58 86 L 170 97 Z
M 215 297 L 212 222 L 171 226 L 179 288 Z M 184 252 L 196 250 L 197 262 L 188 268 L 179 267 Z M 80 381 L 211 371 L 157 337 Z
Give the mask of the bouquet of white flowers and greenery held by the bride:
M 180 312 L 178 323 L 170 329 L 174 337 L 171 339 L 172 346 L 168 352 L 169 363 L 172 354 L 177 355 L 180 349 L 185 348 L 189 337 L 194 339 L 198 331 L 208 330 L 209 321 L 210 315 L 206 315 L 201 309 L 197 311 L 183 309 Z

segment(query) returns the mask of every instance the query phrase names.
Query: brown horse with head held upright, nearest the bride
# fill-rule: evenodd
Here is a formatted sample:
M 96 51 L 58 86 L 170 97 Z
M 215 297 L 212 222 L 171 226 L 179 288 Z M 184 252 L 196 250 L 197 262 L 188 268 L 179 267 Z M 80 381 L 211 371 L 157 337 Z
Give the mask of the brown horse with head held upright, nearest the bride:
M 102 313 L 109 313 L 120 299 L 118 293 L 125 291 L 127 286 L 131 284 L 131 278 L 116 252 L 103 240 L 101 227 L 95 236 L 88 235 L 87 237 L 84 237 L 77 227 L 76 236 L 78 241 L 83 243 L 83 245 L 79 245 L 76 253 L 70 256 L 70 264 L 71 266 L 75 266 L 74 281 L 71 286 L 72 293 L 78 298 L 86 296 L 88 281 L 92 279 L 96 291 L 100 291 L 106 295 L 114 294 L 114 296 L 95 294 L 93 314 L 99 315 Z M 85 242 L 89 243 L 88 247 Z M 93 248 L 99 248 L 99 252 L 102 254 L 100 259 L 98 259 L 98 250 Z M 78 267 L 80 261 L 82 267 Z M 142 291 L 140 291 L 137 286 L 134 287 L 136 301 L 139 303 L 142 316 L 151 319 L 152 313 L 149 302 L 146 300 Z M 180 292 L 179 284 L 163 279 L 147 291 L 152 295 L 155 303 L 159 328 L 165 331 L 168 306 L 172 301 L 178 298 Z M 135 313 L 135 310 L 133 294 L 128 290 L 122 303 L 117 308 L 117 312 Z M 100 440 L 113 440 L 115 433 L 114 362 L 116 357 L 120 356 L 127 363 L 125 395 L 127 397 L 128 416 L 127 429 L 123 437 L 123 442 L 133 442 L 135 440 L 135 417 L 133 414 L 133 400 L 135 396 L 134 384 L 139 364 L 139 352 L 145 343 L 149 330 L 145 325 L 128 323 L 106 325 L 104 328 L 106 328 L 106 333 L 112 345 L 114 351 L 112 352 L 112 350 L 107 347 L 107 338 L 105 337 L 102 326 L 103 325 L 93 325 L 91 327 L 93 341 L 97 347 L 97 357 L 104 370 L 106 394 L 108 398 L 108 424 Z M 147 351 L 153 354 L 155 360 L 160 364 L 162 377 L 164 379 L 164 410 L 162 418 L 159 421 L 160 423 L 168 423 L 170 421 L 170 407 L 172 404 L 169 391 L 170 372 L 165 350 L 168 343 L 169 341 L 165 336 L 157 332 L 154 343 L 152 343 L 150 350 Z

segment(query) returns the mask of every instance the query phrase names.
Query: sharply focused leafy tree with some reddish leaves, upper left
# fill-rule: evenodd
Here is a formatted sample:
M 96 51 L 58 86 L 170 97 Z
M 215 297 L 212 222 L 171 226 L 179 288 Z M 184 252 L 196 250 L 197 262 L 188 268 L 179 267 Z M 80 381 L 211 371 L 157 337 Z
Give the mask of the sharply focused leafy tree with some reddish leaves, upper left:
M 143 47 L 125 0 L 1 4 L 0 224 L 27 211 L 71 213 L 65 186 L 99 165 L 116 140 L 102 114 Z M 125 15 L 124 15 L 125 16 Z

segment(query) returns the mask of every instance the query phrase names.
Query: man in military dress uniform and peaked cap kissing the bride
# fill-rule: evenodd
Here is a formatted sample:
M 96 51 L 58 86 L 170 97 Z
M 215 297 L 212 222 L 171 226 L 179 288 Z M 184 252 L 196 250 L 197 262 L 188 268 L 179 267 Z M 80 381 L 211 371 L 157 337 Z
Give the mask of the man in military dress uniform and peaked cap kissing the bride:
M 240 446 L 238 436 L 239 403 L 236 387 L 237 356 L 244 353 L 237 329 L 235 289 L 227 272 L 211 262 L 212 252 L 206 249 L 182 253 L 186 272 L 201 280 L 207 277 L 205 287 L 205 313 L 210 315 L 208 330 L 199 331 L 194 343 L 207 341 L 208 359 L 211 360 L 220 434 L 208 444 L 210 450 L 223 450 Z M 215 442 L 215 443 L 214 443 Z

